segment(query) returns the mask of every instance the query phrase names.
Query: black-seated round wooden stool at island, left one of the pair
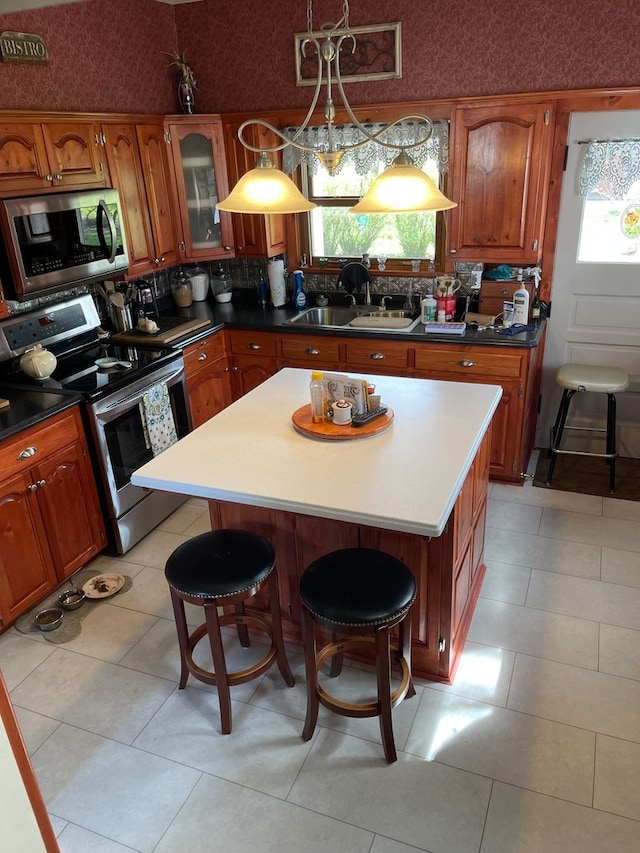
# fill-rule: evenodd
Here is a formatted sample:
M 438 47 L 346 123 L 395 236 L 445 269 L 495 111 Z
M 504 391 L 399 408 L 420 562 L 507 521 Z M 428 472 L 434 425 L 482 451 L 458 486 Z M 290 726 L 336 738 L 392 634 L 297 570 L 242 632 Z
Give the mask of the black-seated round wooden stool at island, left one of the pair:
M 266 672 L 274 660 L 285 683 L 295 684 L 287 661 L 280 605 L 278 577 L 274 571 L 275 553 L 266 539 L 248 530 L 212 530 L 184 542 L 171 554 L 165 566 L 165 577 L 171 592 L 171 603 L 180 647 L 180 689 L 189 674 L 205 684 L 218 688 L 222 734 L 231 732 L 230 687 L 244 684 Z M 254 596 L 266 582 L 269 584 L 271 621 L 258 613 L 245 613 L 244 602 Z M 204 608 L 205 622 L 190 635 L 184 602 Z M 218 607 L 233 604 L 235 613 L 220 616 Z M 247 626 L 265 631 L 271 640 L 266 655 L 246 669 L 228 672 L 220 629 L 236 625 L 242 646 L 249 646 Z M 193 651 L 204 636 L 209 637 L 213 672 L 193 659 Z

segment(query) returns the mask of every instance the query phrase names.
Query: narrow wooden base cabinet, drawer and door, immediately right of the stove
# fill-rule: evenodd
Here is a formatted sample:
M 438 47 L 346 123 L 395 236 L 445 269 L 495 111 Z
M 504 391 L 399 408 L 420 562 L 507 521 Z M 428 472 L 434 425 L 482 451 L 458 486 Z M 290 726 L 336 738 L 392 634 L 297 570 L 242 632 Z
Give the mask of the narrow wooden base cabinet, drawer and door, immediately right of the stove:
M 231 361 L 226 355 L 224 332 L 196 341 L 185 348 L 183 355 L 195 429 L 233 402 Z

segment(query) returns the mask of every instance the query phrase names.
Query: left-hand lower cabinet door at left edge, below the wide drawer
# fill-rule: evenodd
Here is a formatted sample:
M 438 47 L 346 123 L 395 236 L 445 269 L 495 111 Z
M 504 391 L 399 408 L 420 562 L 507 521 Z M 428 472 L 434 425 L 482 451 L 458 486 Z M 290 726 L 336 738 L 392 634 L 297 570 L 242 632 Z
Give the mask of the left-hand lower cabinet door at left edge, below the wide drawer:
M 0 620 L 6 627 L 57 583 L 29 474 L 0 483 Z

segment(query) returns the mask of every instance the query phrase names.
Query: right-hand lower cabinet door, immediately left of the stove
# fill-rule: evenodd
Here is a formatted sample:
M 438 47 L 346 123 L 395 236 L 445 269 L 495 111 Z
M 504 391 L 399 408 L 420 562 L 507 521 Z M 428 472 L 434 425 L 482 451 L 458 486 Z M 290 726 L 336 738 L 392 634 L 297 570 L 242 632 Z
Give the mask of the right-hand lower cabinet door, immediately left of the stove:
M 33 469 L 36 492 L 58 581 L 106 545 L 87 452 L 80 442 Z

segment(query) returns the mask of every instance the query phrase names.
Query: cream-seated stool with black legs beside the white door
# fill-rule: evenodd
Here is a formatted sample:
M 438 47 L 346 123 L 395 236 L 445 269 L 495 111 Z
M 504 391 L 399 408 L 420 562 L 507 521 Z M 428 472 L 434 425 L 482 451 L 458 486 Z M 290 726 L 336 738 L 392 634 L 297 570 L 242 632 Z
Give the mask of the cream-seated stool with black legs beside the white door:
M 555 423 L 551 429 L 551 462 L 547 474 L 547 486 L 551 485 L 553 472 L 559 455 L 600 456 L 609 465 L 609 491 L 613 492 L 616 484 L 616 398 L 615 394 L 625 391 L 629 386 L 629 374 L 621 367 L 602 367 L 592 364 L 563 364 L 556 373 L 556 384 L 562 391 L 562 399 L 558 408 Z M 569 404 L 579 391 L 594 391 L 607 395 L 607 426 L 579 427 L 567 424 Z M 562 434 L 565 429 L 578 432 L 603 432 L 606 435 L 605 452 L 595 453 L 584 450 L 563 450 L 561 448 Z

